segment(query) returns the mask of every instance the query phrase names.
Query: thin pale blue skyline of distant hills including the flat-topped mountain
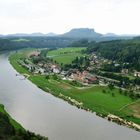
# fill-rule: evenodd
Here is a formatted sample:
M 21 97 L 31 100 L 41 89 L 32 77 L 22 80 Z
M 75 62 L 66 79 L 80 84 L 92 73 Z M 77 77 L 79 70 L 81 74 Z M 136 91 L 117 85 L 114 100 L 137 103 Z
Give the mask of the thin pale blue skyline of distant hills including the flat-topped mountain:
M 69 32 L 64 34 L 55 34 L 55 33 L 47 33 L 43 34 L 40 32 L 26 34 L 26 33 L 16 33 L 16 34 L 8 34 L 8 35 L 0 35 L 0 38 L 13 38 L 13 37 L 51 37 L 51 38 L 66 38 L 73 40 L 81 40 L 88 39 L 89 41 L 111 41 L 111 40 L 120 40 L 120 39 L 132 39 L 136 35 L 116 35 L 114 33 L 101 34 L 95 32 L 94 29 L 90 28 L 74 28 Z

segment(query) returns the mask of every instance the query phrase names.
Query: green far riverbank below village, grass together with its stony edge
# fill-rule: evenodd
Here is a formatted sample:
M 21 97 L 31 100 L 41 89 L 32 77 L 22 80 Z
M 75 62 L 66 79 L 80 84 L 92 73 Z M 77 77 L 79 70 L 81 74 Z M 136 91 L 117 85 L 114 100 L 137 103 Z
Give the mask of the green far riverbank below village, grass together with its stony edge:
M 57 81 L 54 79 L 48 80 L 45 76 L 33 75 L 20 66 L 18 64 L 18 59 L 20 59 L 20 57 L 22 57 L 21 54 L 10 56 L 10 63 L 19 73 L 28 74 L 30 76 L 28 79 L 44 91 L 62 98 L 78 108 L 82 108 L 90 112 L 96 112 L 96 114 L 101 117 L 106 117 L 108 119 L 109 114 L 114 114 L 119 116 L 119 118 L 122 118 L 124 121 L 127 120 L 127 122 L 132 122 L 133 120 L 133 122 L 137 124 L 140 123 L 140 120 L 133 117 L 131 112 L 128 112 L 128 109 L 119 111 L 122 106 L 132 103 L 133 101 L 129 97 L 121 95 L 117 89 L 113 91 L 115 93 L 115 97 L 113 97 L 111 95 L 111 91 L 107 87 L 97 86 L 88 89 L 77 89 L 64 81 Z M 103 93 L 102 91 L 104 89 L 109 91 L 110 94 Z M 113 118 L 111 120 L 114 121 Z M 126 125 L 125 123 L 121 124 Z

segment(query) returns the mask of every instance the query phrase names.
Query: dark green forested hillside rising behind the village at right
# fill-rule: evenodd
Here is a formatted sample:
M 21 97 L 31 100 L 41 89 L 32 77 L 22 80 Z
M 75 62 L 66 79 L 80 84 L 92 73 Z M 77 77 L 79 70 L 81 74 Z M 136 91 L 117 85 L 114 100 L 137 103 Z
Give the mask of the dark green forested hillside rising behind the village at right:
M 117 40 L 87 44 L 87 53 L 96 52 L 101 56 L 119 63 L 128 63 L 128 67 L 140 70 L 140 40 Z

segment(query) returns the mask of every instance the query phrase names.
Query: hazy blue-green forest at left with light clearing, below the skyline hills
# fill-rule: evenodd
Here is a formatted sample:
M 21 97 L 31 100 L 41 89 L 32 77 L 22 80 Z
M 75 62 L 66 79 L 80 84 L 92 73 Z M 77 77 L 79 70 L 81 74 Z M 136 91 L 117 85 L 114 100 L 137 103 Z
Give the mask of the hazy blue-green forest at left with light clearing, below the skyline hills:
M 61 37 L 11 37 L 0 38 L 0 51 L 22 48 L 59 48 L 70 45 L 74 39 Z

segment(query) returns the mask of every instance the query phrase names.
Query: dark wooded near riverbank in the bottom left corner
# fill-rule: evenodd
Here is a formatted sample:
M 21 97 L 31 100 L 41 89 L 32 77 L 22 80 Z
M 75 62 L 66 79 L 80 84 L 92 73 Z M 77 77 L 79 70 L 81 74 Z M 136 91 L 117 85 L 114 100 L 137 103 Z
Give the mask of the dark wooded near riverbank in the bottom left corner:
M 0 104 L 0 139 L 1 140 L 48 140 L 48 138 L 26 131 L 11 118 Z

